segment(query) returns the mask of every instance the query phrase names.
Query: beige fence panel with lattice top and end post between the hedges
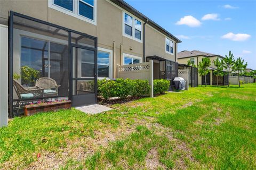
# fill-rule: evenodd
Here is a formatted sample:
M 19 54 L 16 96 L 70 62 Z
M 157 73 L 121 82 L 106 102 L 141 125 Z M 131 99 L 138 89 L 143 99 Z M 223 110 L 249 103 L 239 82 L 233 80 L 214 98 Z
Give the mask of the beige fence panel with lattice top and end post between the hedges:
M 148 80 L 149 96 L 154 97 L 153 87 L 153 60 L 145 63 L 117 65 L 117 78 Z

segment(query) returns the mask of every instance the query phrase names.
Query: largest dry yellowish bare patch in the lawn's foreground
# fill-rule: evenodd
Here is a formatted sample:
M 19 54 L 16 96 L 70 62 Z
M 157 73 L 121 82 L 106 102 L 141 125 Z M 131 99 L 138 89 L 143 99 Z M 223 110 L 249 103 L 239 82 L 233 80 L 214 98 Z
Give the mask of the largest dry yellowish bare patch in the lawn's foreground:
M 104 128 L 94 131 L 93 137 L 80 137 L 67 141 L 67 147 L 61 148 L 58 153 L 42 151 L 41 157 L 26 169 L 58 169 L 69 159 L 83 162 L 101 147 L 107 148 L 109 142 L 122 139 L 133 131 L 135 131 L 135 126 L 125 123 L 118 129 Z

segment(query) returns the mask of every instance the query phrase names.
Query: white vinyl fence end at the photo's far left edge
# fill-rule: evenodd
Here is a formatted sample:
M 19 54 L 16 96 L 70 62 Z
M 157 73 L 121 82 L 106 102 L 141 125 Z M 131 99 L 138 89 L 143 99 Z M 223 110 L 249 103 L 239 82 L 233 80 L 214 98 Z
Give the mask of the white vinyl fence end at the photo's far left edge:
M 0 24 L 0 128 L 8 124 L 8 27 Z

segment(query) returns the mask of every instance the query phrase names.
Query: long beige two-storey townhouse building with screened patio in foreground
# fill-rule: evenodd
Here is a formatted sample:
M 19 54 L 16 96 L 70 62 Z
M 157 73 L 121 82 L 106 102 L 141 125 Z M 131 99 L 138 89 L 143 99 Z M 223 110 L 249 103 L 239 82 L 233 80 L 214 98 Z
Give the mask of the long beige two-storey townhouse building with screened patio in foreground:
M 5 82 L 10 75 L 10 113 L 21 101 L 49 98 L 48 92 L 73 106 L 97 103 L 97 78 L 117 78 L 117 65 L 154 60 L 154 78 L 166 70 L 177 76 L 181 41 L 124 1 L 0 1 L 0 11 L 0 45 L 10 45 L 9 57 L 7 48 L 1 52 L 2 61 L 10 61 L 1 73 Z M 22 76 L 24 66 L 32 77 Z M 17 87 L 34 87 L 40 77 L 60 86 L 43 94 L 25 89 L 26 95 Z

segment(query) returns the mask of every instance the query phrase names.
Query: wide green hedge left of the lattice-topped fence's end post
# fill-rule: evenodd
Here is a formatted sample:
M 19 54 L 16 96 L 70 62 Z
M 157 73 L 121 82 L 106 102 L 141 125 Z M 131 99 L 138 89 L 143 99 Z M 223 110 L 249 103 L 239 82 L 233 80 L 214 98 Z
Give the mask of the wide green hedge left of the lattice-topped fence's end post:
M 127 96 L 142 97 L 149 94 L 147 80 L 116 79 L 98 80 L 98 95 L 105 99 L 110 97 L 126 98 Z

